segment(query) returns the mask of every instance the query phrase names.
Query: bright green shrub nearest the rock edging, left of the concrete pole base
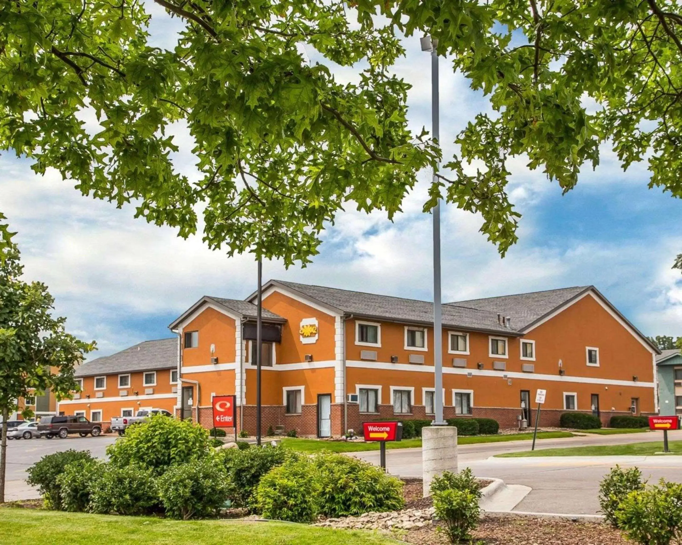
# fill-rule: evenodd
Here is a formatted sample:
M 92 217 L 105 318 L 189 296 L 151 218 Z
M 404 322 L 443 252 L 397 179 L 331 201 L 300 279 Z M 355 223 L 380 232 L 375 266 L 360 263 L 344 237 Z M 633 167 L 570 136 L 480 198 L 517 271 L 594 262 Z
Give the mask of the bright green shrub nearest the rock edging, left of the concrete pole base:
M 331 452 L 313 458 L 319 514 L 355 516 L 404 508 L 402 481 L 370 463 Z

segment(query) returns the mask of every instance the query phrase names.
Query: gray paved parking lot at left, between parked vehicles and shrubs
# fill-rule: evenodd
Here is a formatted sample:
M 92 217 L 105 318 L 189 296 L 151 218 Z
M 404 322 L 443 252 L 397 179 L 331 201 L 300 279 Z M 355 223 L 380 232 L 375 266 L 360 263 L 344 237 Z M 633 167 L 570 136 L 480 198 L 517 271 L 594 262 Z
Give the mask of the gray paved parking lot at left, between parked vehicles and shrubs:
M 106 456 L 106 447 L 116 441 L 117 435 L 100 437 L 79 437 L 70 435 L 67 439 L 13 439 L 7 442 L 7 486 L 5 499 L 38 498 L 38 492 L 26 484 L 26 470 L 46 454 L 60 450 L 89 450 L 97 458 Z

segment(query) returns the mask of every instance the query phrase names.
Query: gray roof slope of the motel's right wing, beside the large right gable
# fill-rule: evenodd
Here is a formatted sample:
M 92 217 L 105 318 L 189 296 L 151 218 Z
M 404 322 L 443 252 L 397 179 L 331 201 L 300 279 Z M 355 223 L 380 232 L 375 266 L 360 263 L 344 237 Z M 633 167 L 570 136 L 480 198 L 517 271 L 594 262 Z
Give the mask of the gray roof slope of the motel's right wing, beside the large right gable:
M 563 287 L 560 290 L 547 290 L 546 292 L 449 302 L 447 305 L 491 311 L 495 315 L 501 313 L 505 317 L 511 317 L 511 327 L 522 330 L 591 288 L 592 286 Z

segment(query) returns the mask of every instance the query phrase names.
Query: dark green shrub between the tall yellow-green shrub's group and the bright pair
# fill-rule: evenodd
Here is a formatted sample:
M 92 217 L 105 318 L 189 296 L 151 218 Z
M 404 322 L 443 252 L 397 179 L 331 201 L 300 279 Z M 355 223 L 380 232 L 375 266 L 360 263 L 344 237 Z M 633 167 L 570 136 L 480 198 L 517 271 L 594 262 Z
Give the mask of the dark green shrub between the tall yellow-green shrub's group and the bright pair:
M 297 457 L 282 446 L 262 448 L 226 448 L 220 452 L 220 460 L 230 485 L 229 497 L 239 507 L 249 507 L 261 478 L 287 458 Z

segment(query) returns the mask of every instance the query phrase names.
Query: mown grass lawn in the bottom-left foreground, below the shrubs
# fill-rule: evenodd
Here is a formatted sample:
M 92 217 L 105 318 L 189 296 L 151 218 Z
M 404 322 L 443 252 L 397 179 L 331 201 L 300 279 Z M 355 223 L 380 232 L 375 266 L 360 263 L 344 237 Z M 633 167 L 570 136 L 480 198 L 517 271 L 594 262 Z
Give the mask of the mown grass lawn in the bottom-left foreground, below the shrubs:
M 0 509 L 3 545 L 397 545 L 369 531 L 237 520 L 165 520 L 33 509 Z

